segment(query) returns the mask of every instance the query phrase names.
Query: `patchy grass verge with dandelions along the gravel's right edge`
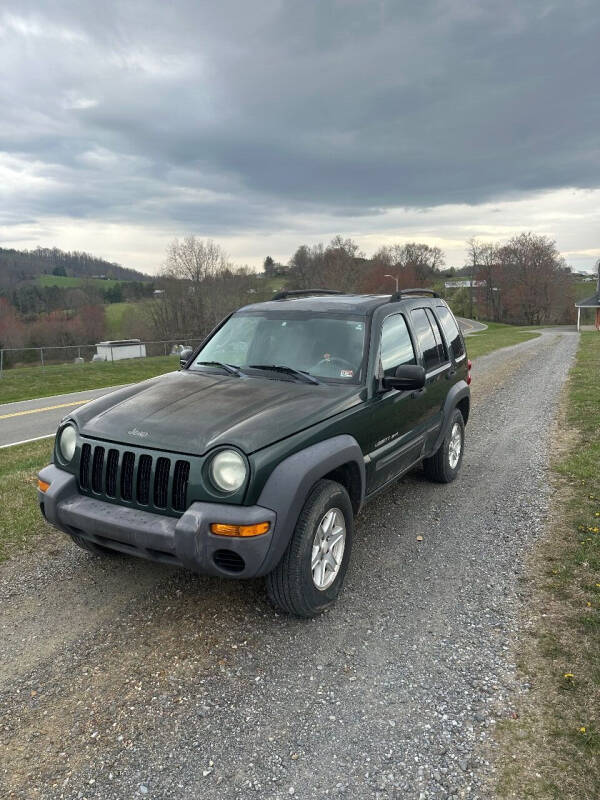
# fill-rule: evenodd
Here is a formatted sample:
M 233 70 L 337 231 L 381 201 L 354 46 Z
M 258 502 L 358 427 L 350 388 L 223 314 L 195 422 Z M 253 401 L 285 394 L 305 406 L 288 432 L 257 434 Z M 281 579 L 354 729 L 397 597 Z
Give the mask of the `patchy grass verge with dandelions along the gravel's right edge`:
M 530 563 L 518 664 L 531 692 L 503 722 L 500 797 L 600 797 L 600 335 L 581 334 L 556 426 L 552 527 Z

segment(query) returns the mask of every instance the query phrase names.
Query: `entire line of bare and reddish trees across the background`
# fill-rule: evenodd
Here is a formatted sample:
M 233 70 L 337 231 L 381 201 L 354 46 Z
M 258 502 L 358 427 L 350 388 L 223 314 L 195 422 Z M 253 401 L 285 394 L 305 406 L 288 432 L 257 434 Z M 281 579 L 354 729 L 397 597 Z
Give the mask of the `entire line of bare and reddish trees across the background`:
M 516 324 L 573 321 L 573 280 L 548 237 L 525 233 L 503 243 L 473 239 L 468 253 L 464 267 L 448 269 L 443 251 L 426 243 L 387 245 L 367 257 L 354 240 L 336 236 L 327 245 L 300 245 L 287 264 L 267 256 L 265 271 L 257 275 L 235 265 L 217 243 L 188 236 L 169 245 L 151 284 L 122 284 L 123 292 L 138 292 L 127 299 L 145 296 L 149 287 L 159 289 L 158 296 L 136 306 L 127 335 L 202 337 L 234 309 L 269 299 L 274 277 L 289 289 L 390 293 L 396 283 L 399 289 L 429 287 L 463 316 Z M 446 289 L 450 277 L 473 285 Z M 64 289 L 26 282 L 3 294 L 0 347 L 93 344 L 105 334 L 106 296 L 95 285 Z

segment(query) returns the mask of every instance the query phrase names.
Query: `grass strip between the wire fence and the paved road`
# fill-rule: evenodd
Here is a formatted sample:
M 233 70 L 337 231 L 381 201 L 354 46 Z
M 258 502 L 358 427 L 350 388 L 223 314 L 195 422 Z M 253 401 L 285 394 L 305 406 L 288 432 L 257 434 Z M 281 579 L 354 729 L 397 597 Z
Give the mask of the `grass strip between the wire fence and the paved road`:
M 0 403 L 133 383 L 176 369 L 179 369 L 177 356 L 52 364 L 44 370 L 37 366 L 17 367 L 7 369 L 0 378 Z

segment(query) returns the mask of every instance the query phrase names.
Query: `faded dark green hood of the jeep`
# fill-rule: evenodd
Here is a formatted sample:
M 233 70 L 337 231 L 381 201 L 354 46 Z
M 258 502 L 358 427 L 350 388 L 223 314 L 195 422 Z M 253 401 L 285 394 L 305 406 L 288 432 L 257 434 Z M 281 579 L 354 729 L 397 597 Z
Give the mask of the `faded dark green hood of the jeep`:
M 184 370 L 128 386 L 69 415 L 84 436 L 202 455 L 245 453 L 361 402 L 361 387 L 304 384 Z

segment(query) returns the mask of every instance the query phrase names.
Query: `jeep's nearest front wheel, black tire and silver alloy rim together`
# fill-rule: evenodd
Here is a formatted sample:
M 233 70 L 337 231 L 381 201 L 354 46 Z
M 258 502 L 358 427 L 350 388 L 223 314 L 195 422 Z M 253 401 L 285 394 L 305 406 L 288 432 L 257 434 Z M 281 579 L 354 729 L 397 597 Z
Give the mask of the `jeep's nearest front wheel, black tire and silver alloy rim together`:
M 353 526 L 348 492 L 335 481 L 318 481 L 281 561 L 267 575 L 271 603 L 298 617 L 314 617 L 333 605 L 348 568 Z

